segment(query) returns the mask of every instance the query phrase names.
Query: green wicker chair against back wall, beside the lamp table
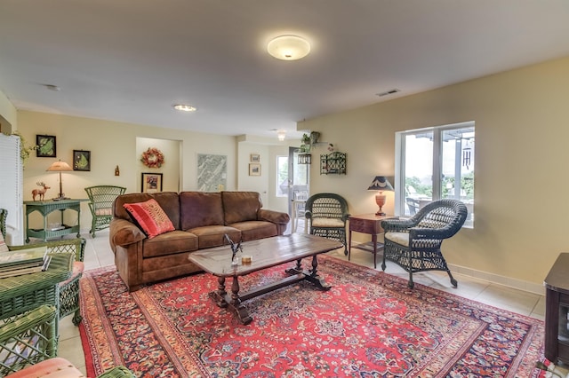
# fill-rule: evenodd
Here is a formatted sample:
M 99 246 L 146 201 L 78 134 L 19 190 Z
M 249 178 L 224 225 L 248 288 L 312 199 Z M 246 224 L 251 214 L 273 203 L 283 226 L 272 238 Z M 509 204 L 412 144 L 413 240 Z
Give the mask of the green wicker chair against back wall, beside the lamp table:
M 91 209 L 92 224 L 89 231 L 92 237 L 95 232 L 108 228 L 113 218 L 113 202 L 116 197 L 124 194 L 126 188 L 113 185 L 96 185 L 85 188 L 89 196 L 89 209 Z

